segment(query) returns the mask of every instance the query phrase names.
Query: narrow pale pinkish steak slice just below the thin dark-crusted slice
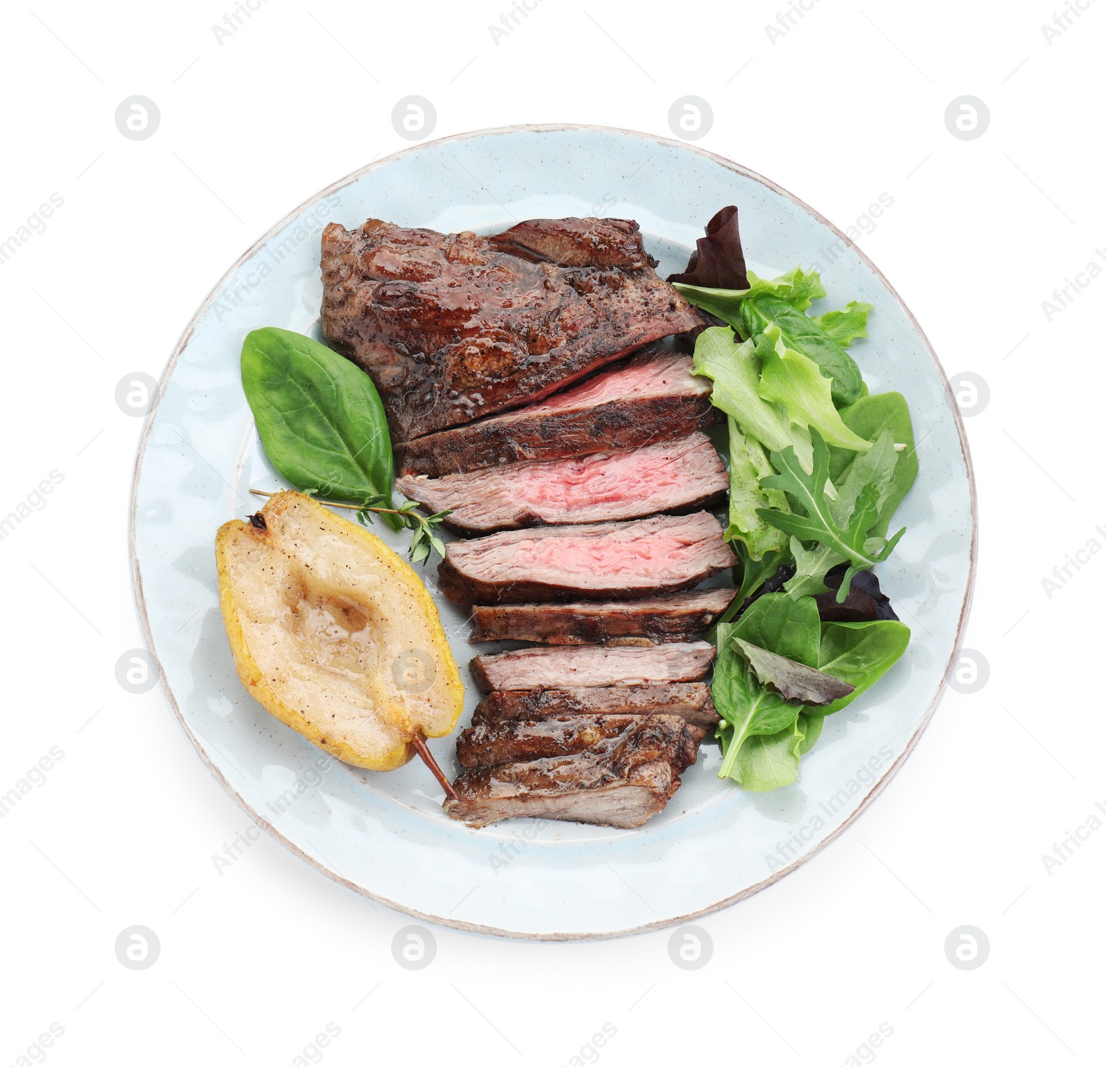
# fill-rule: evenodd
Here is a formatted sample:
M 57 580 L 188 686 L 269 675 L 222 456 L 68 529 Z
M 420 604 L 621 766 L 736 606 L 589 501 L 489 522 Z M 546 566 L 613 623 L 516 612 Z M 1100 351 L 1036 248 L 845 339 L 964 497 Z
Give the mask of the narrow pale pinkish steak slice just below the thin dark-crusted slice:
M 586 644 L 577 648 L 540 645 L 494 655 L 473 656 L 469 666 L 480 692 L 545 690 L 562 685 L 650 685 L 698 682 L 714 662 L 708 641 L 623 648 Z

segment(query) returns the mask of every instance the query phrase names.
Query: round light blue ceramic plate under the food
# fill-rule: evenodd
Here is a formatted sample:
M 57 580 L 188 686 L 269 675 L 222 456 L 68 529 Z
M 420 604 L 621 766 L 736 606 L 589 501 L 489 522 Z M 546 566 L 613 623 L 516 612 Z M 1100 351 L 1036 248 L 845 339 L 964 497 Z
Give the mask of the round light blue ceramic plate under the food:
M 386 775 L 341 764 L 321 773 L 320 750 L 271 718 L 238 681 L 212 546 L 222 522 L 257 509 L 250 487 L 280 485 L 242 394 L 239 352 L 257 327 L 319 336 L 322 227 L 378 217 L 488 232 L 535 217 L 634 218 L 665 277 L 684 269 L 703 225 L 727 204 L 740 206 L 759 274 L 821 265 L 827 309 L 849 300 L 875 305 L 870 339 L 853 352 L 872 392 L 907 396 L 921 462 L 898 514 L 908 532 L 880 567 L 914 631 L 904 659 L 827 719 L 801 781 L 742 793 L 718 779 L 718 749 L 707 742 L 668 809 L 638 830 L 544 820 L 471 830 L 442 815 L 441 793 L 418 760 Z M 693 919 L 757 892 L 832 840 L 886 786 L 932 715 L 974 572 L 974 493 L 959 414 L 920 328 L 864 253 L 806 205 L 734 163 L 646 134 L 580 126 L 418 145 L 338 182 L 279 222 L 216 286 L 169 360 L 138 452 L 131 524 L 135 595 L 166 697 L 246 811 L 306 862 L 399 911 L 545 940 Z M 409 537 L 385 536 L 400 551 Z M 424 574 L 463 669 L 474 651 L 465 614 L 437 595 L 432 566 Z M 476 700 L 470 687 L 462 725 Z M 452 739 L 434 748 L 456 770 Z

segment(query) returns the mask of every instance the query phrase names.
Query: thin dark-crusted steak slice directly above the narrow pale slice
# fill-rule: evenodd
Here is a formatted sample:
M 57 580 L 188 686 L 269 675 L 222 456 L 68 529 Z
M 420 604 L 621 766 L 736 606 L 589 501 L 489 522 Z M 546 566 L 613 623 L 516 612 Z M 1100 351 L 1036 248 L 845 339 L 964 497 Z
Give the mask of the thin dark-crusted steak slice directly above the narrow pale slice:
M 730 607 L 732 589 L 693 589 L 626 603 L 504 604 L 472 609 L 469 640 L 539 641 L 545 644 L 686 641 L 709 629 Z

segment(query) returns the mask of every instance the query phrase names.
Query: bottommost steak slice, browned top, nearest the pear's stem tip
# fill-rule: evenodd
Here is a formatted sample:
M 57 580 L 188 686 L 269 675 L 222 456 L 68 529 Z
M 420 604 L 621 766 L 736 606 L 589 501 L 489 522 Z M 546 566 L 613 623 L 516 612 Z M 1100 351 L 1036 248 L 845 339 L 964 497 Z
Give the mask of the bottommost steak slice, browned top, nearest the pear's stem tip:
M 696 748 L 682 719 L 648 716 L 601 755 L 466 770 L 453 783 L 459 799 L 442 807 L 474 827 L 525 816 L 629 829 L 664 809 Z

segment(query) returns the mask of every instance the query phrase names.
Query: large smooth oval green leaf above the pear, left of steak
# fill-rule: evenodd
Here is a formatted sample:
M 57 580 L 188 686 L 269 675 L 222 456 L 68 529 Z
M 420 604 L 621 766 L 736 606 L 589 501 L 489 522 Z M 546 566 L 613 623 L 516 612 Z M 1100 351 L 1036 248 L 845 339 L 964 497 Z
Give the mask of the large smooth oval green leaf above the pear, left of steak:
M 390 507 L 392 442 L 364 371 L 302 333 L 265 327 L 242 344 L 242 387 L 269 458 L 295 488 Z M 394 515 L 383 518 L 399 529 Z

